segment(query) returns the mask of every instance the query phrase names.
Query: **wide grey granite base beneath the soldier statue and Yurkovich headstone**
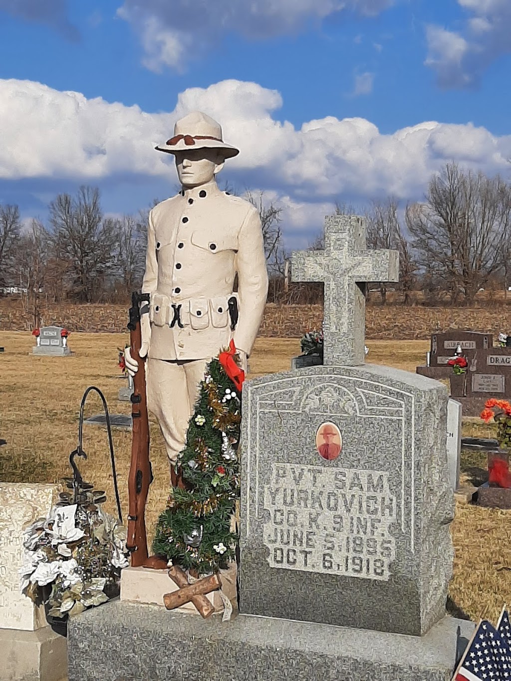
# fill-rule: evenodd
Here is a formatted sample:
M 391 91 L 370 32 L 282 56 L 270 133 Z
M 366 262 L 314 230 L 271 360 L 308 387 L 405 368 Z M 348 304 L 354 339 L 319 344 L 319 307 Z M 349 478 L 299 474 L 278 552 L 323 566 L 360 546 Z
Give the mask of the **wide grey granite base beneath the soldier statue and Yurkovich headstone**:
M 450 681 L 474 624 L 424 637 L 111 601 L 69 622 L 69 681 Z

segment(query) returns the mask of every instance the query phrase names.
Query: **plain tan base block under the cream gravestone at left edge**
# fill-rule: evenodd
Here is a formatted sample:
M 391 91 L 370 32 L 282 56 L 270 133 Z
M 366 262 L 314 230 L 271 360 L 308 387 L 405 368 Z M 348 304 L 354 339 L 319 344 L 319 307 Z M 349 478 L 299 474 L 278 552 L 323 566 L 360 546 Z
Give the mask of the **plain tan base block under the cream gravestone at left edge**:
M 0 629 L 0 681 L 64 681 L 67 641 L 51 629 Z

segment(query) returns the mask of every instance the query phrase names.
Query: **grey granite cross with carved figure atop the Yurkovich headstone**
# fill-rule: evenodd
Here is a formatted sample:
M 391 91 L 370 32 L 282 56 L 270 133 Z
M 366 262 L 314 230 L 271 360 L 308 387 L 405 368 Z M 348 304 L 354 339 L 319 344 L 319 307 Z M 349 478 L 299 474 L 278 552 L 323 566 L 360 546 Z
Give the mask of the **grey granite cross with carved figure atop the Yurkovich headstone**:
M 324 282 L 324 364 L 364 364 L 365 284 L 399 281 L 398 251 L 367 249 L 365 219 L 325 218 L 325 248 L 292 254 L 292 281 Z

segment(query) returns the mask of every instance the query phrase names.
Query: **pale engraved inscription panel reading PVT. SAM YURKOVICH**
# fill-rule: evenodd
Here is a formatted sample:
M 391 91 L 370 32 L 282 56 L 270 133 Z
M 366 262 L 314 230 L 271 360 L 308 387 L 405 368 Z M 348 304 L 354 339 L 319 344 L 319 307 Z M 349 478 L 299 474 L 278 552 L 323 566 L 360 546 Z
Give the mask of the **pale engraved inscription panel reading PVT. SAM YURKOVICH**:
M 390 577 L 397 509 L 388 473 L 274 463 L 264 509 L 270 567 Z

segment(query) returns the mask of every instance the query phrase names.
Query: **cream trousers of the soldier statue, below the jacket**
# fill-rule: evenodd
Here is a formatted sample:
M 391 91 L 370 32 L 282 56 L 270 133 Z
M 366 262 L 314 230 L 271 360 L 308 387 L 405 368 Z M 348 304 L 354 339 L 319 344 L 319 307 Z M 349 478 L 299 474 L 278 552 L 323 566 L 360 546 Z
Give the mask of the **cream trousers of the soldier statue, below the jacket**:
M 159 423 L 170 466 L 185 446 L 189 418 L 207 361 L 147 360 L 147 407 Z

